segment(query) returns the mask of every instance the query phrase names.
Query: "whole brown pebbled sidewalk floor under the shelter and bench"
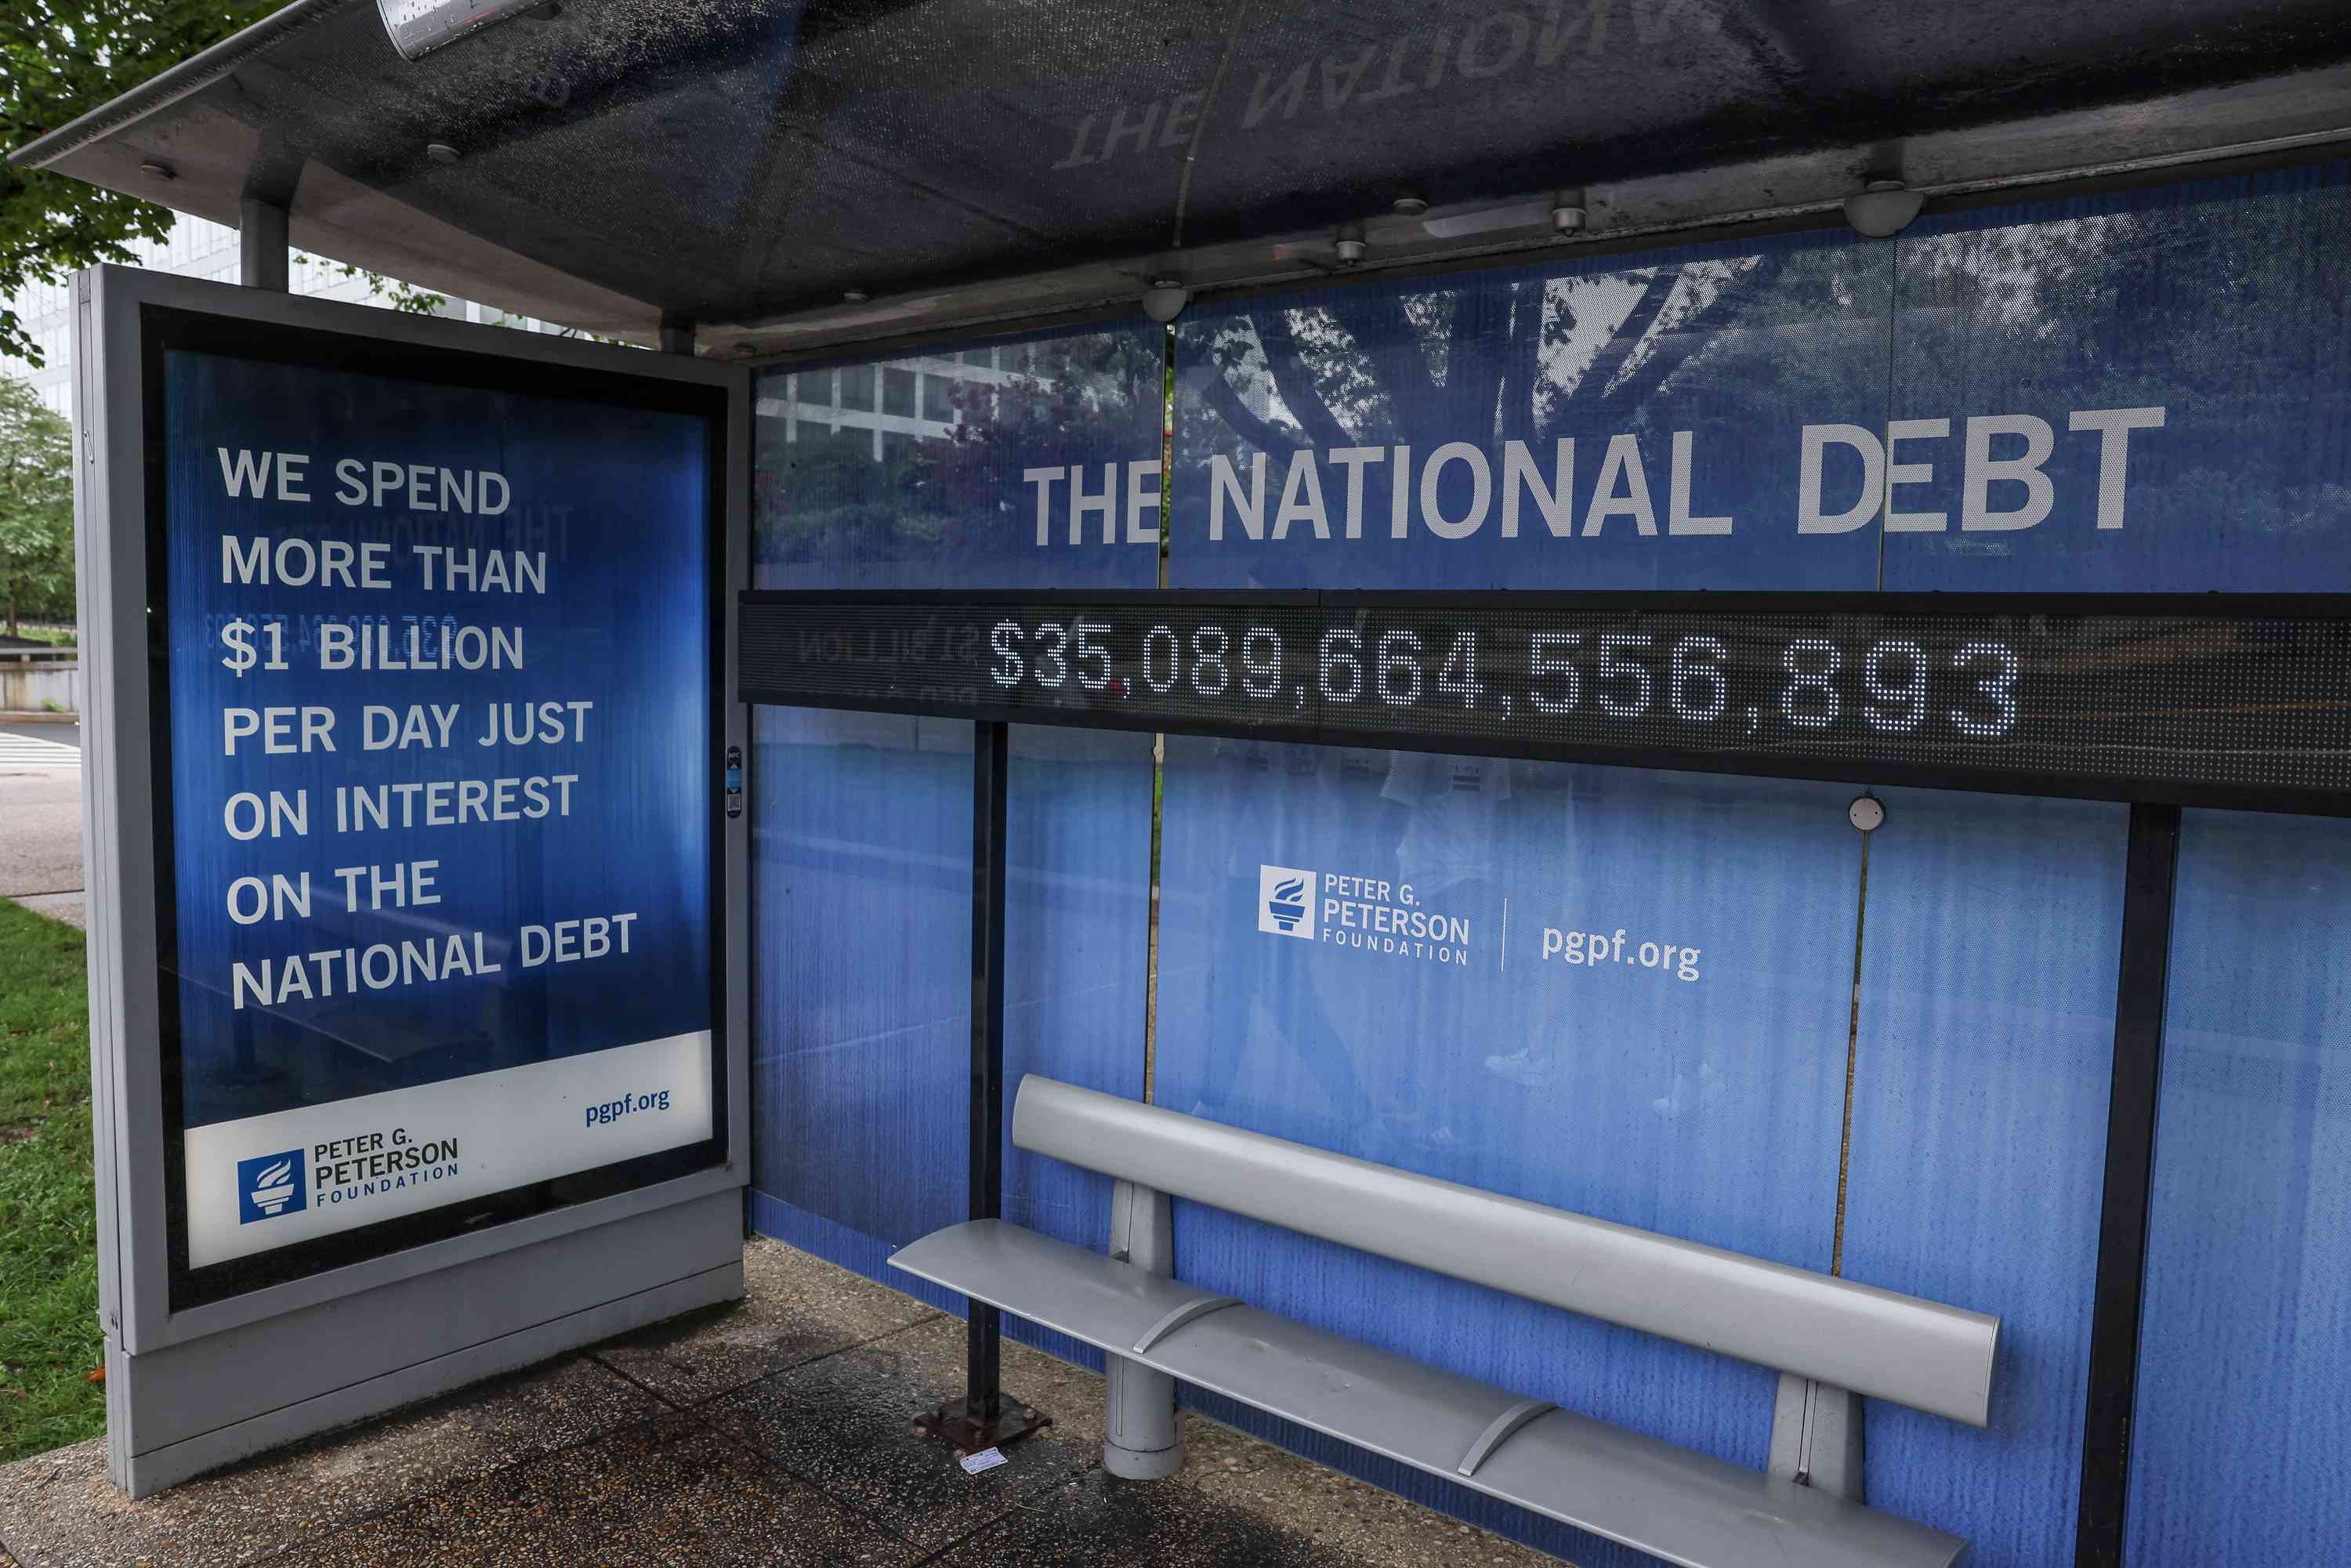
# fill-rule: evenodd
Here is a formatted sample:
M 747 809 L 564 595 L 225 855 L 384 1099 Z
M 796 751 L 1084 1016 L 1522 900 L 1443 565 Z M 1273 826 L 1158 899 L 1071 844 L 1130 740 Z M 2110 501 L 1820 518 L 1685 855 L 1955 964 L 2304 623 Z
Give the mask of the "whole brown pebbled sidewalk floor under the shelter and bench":
M 964 1326 L 773 1241 L 750 1298 L 132 1502 L 99 1441 L 0 1469 L 0 1566 L 1559 1568 L 1190 1418 L 1173 1481 L 1100 1467 L 1103 1380 L 1004 1345 L 1053 1415 L 966 1476 L 912 1418 Z

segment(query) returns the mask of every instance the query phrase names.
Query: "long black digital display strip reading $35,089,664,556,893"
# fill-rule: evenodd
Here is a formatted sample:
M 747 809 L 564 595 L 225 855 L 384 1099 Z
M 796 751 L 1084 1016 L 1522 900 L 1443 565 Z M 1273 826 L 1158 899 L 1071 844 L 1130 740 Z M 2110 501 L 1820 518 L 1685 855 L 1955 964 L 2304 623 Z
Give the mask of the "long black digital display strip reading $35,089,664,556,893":
M 2337 597 L 743 597 L 743 698 L 2351 811 Z

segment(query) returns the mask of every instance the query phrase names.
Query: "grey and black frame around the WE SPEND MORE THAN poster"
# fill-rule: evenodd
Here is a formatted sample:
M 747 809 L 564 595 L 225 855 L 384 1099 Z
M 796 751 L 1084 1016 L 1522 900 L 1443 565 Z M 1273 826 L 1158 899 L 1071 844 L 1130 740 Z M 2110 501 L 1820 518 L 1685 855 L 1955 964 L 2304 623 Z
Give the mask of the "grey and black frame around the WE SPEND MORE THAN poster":
M 172 313 L 169 317 L 162 313 Z M 600 386 L 623 397 L 630 383 L 649 402 L 708 397 L 715 414 L 710 484 L 710 853 L 712 853 L 712 1107 L 715 1126 L 698 1168 L 630 1173 L 642 1185 L 522 1206 L 496 1222 L 402 1232 L 390 1246 L 301 1244 L 308 1269 L 275 1269 L 254 1288 L 186 1300 L 183 1215 L 174 1225 L 172 1168 L 179 1133 L 167 1105 L 165 994 L 169 959 L 169 832 L 165 625 L 153 583 L 160 562 L 158 322 L 197 320 L 256 339 L 315 336 L 334 362 L 348 350 L 371 360 L 411 357 L 418 378 L 463 367 L 475 386 L 555 390 Z M 734 701 L 736 609 L 750 557 L 750 374 L 684 355 L 578 343 L 508 327 L 477 327 L 369 306 L 296 299 L 139 268 L 101 266 L 75 284 L 75 517 L 82 578 L 82 649 L 89 665 L 85 712 L 85 837 L 89 886 L 89 999 L 94 1145 L 99 1182 L 99 1298 L 108 1340 L 139 1356 L 350 1295 L 456 1269 L 513 1248 L 694 1204 L 748 1182 L 748 818 L 724 813 L 724 757 L 748 745 L 748 712 Z M 557 393 L 560 395 L 560 393 Z M 665 1157 L 651 1157 L 654 1164 Z M 456 1215 L 451 1215 L 454 1220 Z M 395 1222 L 397 1225 L 397 1222 Z M 374 1229 L 374 1227 L 369 1227 Z M 353 1232 L 364 1237 L 367 1232 Z M 270 1253 L 259 1258 L 268 1260 Z M 741 1258 L 741 1253 L 736 1255 Z M 665 1284 L 630 1279 L 611 1258 L 611 1298 Z M 524 1314 L 527 1319 L 529 1314 Z M 456 1349 L 456 1347 L 449 1347 Z M 329 1385 L 331 1387 L 331 1385 Z M 115 1389 L 110 1387 L 110 1403 Z

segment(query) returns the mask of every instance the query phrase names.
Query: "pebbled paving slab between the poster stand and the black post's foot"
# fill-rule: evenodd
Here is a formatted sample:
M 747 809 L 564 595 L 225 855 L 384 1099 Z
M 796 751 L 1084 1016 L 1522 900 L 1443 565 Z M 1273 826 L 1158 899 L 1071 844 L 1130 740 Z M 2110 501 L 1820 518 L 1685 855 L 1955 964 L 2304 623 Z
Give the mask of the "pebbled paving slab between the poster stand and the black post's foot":
M 743 1246 L 745 1295 L 654 1324 L 595 1349 L 614 1371 L 677 1406 L 940 1316 L 929 1305 L 797 1248 Z

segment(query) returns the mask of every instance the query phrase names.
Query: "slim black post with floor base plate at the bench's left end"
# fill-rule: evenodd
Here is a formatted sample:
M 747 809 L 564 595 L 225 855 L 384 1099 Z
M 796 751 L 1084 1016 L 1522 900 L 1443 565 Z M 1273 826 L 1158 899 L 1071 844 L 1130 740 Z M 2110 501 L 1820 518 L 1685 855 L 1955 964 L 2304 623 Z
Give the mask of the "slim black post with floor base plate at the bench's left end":
M 971 1218 L 1004 1215 L 1004 797 L 1011 729 L 971 726 Z M 1002 1314 L 971 1302 L 964 1324 L 964 1396 L 922 1427 L 964 1453 L 999 1448 L 1051 1425 L 999 1385 Z

